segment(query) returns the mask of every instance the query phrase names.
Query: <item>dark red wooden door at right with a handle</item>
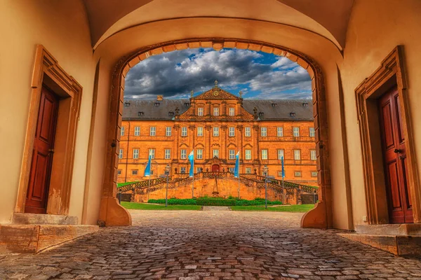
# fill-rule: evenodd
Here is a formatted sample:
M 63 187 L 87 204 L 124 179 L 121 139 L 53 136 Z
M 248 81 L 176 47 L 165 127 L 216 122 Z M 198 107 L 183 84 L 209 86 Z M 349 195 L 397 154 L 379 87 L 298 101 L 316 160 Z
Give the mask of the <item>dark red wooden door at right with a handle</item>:
M 396 87 L 380 97 L 380 132 L 385 161 L 387 206 L 391 223 L 413 223 L 407 181 L 408 160 L 400 110 Z

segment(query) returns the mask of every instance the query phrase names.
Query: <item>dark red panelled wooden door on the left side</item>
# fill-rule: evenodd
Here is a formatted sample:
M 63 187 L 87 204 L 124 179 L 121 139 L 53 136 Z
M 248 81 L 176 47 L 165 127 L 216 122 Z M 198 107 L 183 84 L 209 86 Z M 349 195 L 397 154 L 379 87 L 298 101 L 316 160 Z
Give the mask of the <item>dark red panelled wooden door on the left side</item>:
M 25 204 L 27 213 L 46 213 L 57 113 L 58 98 L 53 92 L 43 87 Z

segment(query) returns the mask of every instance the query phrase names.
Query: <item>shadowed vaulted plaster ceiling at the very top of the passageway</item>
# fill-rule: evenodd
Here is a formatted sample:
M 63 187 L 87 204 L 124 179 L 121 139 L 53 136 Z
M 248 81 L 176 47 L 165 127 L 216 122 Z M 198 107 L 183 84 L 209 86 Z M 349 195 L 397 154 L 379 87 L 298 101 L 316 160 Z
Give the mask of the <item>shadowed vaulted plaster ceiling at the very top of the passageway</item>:
M 312 31 L 342 50 L 354 0 L 83 0 L 95 48 L 123 29 L 175 18 L 239 18 Z M 253 23 L 250 23 L 253 29 Z

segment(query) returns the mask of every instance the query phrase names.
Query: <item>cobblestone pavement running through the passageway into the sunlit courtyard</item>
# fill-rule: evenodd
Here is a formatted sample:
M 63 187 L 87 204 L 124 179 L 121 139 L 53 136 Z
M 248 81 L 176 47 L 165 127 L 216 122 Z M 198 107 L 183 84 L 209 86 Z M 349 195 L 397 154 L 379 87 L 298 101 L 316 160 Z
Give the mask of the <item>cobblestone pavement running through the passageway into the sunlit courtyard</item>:
M 132 211 L 38 255 L 0 257 L 0 279 L 421 279 L 421 261 L 298 228 L 301 214 Z

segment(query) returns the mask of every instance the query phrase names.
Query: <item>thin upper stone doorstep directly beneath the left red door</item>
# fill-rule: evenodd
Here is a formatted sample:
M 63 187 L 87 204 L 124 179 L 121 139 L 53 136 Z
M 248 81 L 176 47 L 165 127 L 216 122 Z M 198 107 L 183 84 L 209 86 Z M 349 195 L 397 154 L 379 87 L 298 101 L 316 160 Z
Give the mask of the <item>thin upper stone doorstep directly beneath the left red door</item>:
M 77 225 L 76 216 L 14 213 L 13 225 Z

